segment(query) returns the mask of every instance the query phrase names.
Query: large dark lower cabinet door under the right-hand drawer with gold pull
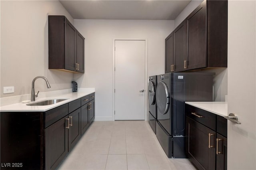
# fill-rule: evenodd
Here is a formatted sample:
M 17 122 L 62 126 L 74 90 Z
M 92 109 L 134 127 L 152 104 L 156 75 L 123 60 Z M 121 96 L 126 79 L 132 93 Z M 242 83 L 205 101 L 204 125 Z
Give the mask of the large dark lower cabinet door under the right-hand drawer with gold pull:
M 198 169 L 215 169 L 216 133 L 186 117 L 186 152 Z

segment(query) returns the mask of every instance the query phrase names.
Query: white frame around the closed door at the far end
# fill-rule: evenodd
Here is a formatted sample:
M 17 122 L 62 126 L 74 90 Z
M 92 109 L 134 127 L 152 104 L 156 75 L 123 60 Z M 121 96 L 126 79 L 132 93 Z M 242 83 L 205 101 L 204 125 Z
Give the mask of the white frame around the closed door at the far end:
M 146 38 L 114 38 L 113 39 L 113 64 L 112 64 L 112 121 L 115 121 L 115 41 L 116 40 L 134 40 L 134 41 L 145 41 L 145 73 L 144 73 L 144 84 L 145 84 L 145 100 L 144 100 L 144 118 L 145 121 L 148 121 L 148 117 L 147 117 L 147 96 L 148 96 L 148 40 Z

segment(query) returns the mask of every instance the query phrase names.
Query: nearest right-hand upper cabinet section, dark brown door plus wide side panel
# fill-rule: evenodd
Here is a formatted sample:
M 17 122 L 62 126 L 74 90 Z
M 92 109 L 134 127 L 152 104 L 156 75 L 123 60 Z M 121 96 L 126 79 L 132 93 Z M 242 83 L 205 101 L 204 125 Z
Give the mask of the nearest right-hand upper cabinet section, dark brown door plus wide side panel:
M 227 67 L 228 1 L 205 0 L 187 18 L 188 68 Z

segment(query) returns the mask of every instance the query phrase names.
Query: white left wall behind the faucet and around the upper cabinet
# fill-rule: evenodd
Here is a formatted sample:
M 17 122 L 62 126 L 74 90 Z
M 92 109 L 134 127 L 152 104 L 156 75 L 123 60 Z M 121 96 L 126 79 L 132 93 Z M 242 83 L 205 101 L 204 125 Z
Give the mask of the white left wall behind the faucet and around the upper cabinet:
M 36 91 L 71 88 L 73 73 L 48 70 L 48 15 L 74 19 L 59 1 L 0 1 L 1 3 L 1 75 L 0 97 L 29 94 L 32 79 Z M 3 94 L 4 86 L 14 86 L 15 93 Z M 40 95 L 40 93 L 39 93 Z

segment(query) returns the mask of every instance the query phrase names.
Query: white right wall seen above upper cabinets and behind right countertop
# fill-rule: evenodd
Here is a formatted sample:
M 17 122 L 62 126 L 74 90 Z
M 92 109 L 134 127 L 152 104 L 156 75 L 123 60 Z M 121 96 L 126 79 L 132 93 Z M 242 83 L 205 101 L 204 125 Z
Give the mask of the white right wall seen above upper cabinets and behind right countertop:
M 192 0 L 186 8 L 175 18 L 174 27 L 176 28 L 186 17 L 196 9 L 203 0 Z M 174 29 L 175 29 L 174 28 Z M 211 69 L 200 72 L 214 72 L 214 101 L 225 101 L 225 95 L 228 95 L 228 69 Z

